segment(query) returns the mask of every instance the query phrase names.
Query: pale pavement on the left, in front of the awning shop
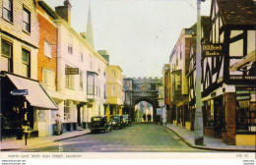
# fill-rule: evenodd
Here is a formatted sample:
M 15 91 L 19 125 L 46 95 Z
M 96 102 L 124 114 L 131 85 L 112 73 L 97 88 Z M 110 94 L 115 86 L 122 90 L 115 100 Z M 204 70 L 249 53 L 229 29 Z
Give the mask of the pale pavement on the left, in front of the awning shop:
M 68 138 L 77 138 L 81 136 L 85 136 L 91 133 L 89 129 L 83 131 L 74 131 L 64 133 L 60 136 L 51 136 L 51 137 L 40 137 L 40 138 L 28 138 L 27 145 L 25 145 L 25 139 L 2 139 L 1 141 L 1 151 L 11 151 L 11 150 L 20 150 L 26 148 L 32 148 L 39 145 L 45 145 L 47 143 L 64 140 Z

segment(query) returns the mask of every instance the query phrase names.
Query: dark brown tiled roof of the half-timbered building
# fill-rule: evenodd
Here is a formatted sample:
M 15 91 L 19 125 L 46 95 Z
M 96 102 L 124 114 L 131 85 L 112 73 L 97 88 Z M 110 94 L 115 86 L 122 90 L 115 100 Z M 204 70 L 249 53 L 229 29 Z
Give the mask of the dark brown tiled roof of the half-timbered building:
M 217 0 L 217 3 L 224 25 L 256 25 L 256 3 L 253 0 Z

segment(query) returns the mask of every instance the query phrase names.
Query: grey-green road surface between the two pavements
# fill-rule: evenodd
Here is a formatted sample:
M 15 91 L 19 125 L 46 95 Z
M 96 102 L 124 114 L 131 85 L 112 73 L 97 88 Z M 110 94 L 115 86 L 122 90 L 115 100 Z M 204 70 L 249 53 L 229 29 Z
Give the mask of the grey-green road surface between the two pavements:
M 89 134 L 38 146 L 26 152 L 202 152 L 189 147 L 169 130 L 155 124 L 133 124 L 111 133 Z M 208 151 L 209 152 L 209 151 Z

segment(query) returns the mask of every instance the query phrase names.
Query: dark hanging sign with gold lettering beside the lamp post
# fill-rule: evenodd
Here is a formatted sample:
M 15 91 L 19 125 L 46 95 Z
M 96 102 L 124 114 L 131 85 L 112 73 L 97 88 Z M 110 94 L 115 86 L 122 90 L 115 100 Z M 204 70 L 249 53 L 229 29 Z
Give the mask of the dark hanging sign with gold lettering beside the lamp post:
M 202 55 L 205 57 L 221 56 L 223 49 L 223 44 L 203 44 Z

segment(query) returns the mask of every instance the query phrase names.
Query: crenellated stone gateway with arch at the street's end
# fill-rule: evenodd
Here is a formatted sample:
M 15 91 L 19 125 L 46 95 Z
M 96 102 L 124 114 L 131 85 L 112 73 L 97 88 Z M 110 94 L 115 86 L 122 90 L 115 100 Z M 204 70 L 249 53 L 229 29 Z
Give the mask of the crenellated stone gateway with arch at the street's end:
M 135 105 L 141 101 L 147 101 L 153 105 L 154 120 L 159 107 L 159 86 L 162 79 L 156 78 L 125 78 L 123 87 L 125 99 L 123 113 L 130 114 L 135 119 Z

